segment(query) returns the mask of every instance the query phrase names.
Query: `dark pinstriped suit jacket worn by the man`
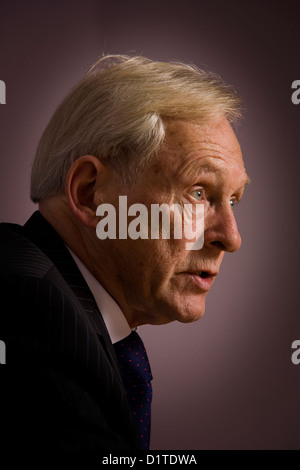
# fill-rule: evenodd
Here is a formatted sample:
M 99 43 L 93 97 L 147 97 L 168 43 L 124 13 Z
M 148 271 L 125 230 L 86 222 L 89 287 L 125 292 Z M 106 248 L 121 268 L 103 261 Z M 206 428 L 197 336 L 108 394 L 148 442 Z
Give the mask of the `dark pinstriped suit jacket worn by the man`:
M 138 449 L 106 326 L 63 241 L 39 212 L 0 224 L 0 241 L 1 447 Z

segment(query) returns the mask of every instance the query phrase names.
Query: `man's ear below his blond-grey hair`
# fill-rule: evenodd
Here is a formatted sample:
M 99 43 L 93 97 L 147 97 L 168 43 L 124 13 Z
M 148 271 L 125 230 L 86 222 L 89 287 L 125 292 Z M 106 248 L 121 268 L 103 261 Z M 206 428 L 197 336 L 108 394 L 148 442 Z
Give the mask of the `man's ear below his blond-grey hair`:
M 96 228 L 95 192 L 105 180 L 107 168 L 97 157 L 78 158 L 67 174 L 66 198 L 73 214 L 87 227 Z

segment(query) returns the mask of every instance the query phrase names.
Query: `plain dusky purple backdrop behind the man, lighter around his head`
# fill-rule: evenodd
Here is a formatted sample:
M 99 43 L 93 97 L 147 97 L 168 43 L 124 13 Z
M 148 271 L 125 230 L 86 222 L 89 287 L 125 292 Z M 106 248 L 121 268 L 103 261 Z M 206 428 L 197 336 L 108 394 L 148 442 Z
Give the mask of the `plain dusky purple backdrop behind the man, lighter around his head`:
M 35 209 L 40 135 L 103 52 L 192 62 L 244 97 L 242 248 L 225 256 L 199 322 L 140 328 L 154 375 L 152 449 L 300 449 L 299 14 L 297 0 L 1 2 L 1 221 L 24 223 Z

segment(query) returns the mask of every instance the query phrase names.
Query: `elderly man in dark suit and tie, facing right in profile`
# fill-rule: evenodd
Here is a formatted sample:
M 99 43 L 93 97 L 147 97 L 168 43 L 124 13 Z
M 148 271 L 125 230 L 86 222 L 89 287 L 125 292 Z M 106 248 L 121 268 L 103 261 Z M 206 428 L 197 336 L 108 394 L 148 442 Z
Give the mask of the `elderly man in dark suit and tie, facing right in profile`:
M 135 330 L 199 319 L 225 251 L 240 247 L 238 117 L 216 76 L 127 56 L 98 60 L 58 107 L 32 169 L 39 211 L 1 226 L 8 443 L 149 448 L 152 376 Z M 174 236 L 174 212 L 169 237 L 120 235 L 116 219 L 118 236 L 99 239 L 97 208 L 120 209 L 120 196 L 201 206 L 202 248 Z

